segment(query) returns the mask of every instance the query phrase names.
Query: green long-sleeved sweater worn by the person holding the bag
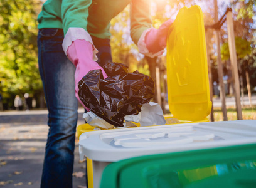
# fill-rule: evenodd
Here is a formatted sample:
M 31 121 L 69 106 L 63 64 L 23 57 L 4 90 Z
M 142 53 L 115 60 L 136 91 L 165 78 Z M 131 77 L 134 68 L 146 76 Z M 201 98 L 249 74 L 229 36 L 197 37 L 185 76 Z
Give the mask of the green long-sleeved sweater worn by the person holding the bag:
M 110 38 L 110 21 L 131 3 L 131 37 L 137 44 L 152 26 L 149 0 L 47 0 L 38 15 L 38 28 L 83 28 L 92 36 Z

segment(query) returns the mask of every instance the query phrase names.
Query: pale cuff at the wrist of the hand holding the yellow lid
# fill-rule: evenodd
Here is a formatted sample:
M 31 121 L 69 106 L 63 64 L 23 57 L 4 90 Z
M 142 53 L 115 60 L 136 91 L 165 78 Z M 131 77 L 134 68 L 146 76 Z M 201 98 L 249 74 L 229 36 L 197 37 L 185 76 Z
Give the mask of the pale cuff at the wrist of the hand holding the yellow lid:
M 153 29 L 153 28 L 148 28 L 145 31 L 143 31 L 143 33 L 141 34 L 141 37 L 139 38 L 137 46 L 138 46 L 138 49 L 139 49 L 139 53 L 142 53 L 146 56 L 154 58 L 156 56 L 162 55 L 164 53 L 164 49 L 161 50 L 161 51 L 158 51 L 157 53 L 154 53 L 154 54 L 152 52 L 149 52 L 149 50 L 147 49 L 147 46 L 146 46 L 146 43 L 145 43 L 145 36 L 146 36 L 147 32 L 151 31 L 151 29 Z

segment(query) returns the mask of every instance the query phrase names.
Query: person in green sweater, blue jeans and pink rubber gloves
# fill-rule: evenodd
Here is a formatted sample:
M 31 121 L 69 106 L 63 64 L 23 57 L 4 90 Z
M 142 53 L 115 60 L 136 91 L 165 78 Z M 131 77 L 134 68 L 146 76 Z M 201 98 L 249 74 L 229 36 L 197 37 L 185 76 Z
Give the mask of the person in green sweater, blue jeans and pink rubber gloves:
M 161 55 L 173 21 L 152 28 L 148 0 L 48 0 L 43 4 L 38 16 L 38 63 L 50 128 L 41 187 L 72 187 L 80 101 L 77 83 L 90 70 L 101 69 L 107 77 L 101 66 L 112 61 L 110 21 L 128 4 L 131 37 L 139 51 Z

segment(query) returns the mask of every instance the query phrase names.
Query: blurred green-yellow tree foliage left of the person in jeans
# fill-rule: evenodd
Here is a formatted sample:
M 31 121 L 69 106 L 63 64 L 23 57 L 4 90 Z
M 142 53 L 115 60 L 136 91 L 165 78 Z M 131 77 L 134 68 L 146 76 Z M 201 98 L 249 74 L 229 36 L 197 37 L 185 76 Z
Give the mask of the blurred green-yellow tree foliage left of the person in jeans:
M 37 23 L 40 0 L 0 2 L 0 92 L 34 94 L 41 90 L 37 65 Z

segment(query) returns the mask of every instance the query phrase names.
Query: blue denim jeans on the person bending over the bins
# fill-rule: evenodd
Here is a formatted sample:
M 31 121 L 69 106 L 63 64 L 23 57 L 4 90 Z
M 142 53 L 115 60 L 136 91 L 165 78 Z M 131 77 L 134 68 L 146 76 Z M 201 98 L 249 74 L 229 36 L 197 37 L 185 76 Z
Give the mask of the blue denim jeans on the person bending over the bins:
M 38 32 L 38 65 L 48 108 L 49 133 L 41 187 L 72 187 L 78 101 L 75 97 L 75 66 L 63 52 L 62 29 Z M 109 39 L 93 37 L 99 64 L 112 61 Z

